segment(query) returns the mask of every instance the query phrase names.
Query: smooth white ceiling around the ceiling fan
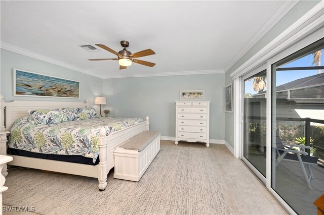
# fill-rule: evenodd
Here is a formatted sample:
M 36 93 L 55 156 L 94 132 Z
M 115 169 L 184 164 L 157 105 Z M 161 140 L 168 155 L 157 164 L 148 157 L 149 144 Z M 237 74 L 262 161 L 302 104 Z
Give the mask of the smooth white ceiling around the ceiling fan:
M 1 46 L 101 78 L 209 74 L 229 69 L 292 1 L 1 1 Z M 112 53 L 151 48 L 156 63 L 119 70 Z

